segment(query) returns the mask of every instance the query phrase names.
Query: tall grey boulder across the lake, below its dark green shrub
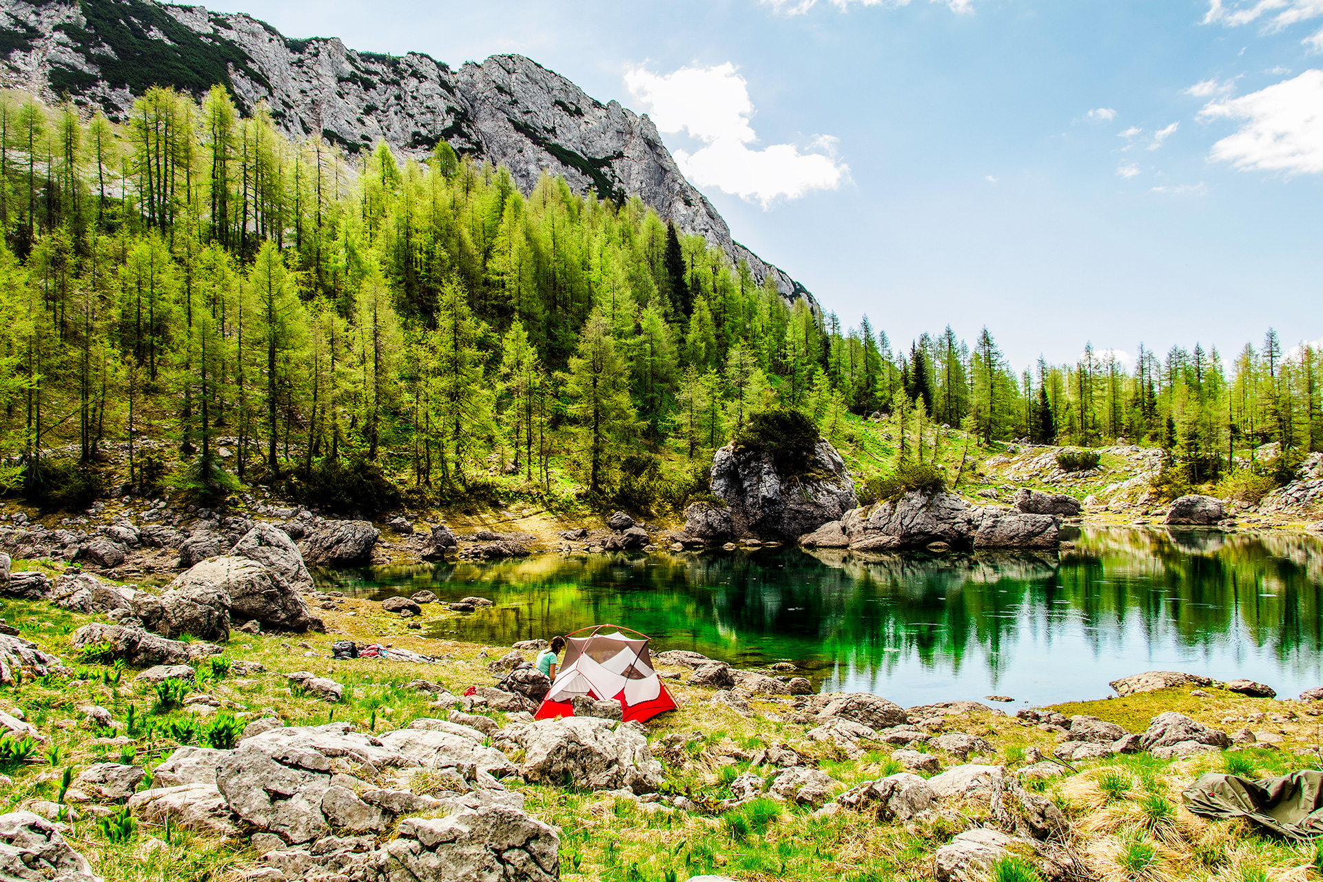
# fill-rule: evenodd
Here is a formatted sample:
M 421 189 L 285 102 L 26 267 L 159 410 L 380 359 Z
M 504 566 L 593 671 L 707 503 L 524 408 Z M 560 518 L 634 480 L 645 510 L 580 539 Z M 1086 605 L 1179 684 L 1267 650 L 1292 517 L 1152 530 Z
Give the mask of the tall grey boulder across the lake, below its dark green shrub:
M 818 440 L 812 467 L 827 477 L 794 483 L 777 472 L 771 454 L 730 443 L 712 458 L 712 492 L 729 506 L 736 536 L 795 542 L 859 505 L 855 481 L 830 442 Z

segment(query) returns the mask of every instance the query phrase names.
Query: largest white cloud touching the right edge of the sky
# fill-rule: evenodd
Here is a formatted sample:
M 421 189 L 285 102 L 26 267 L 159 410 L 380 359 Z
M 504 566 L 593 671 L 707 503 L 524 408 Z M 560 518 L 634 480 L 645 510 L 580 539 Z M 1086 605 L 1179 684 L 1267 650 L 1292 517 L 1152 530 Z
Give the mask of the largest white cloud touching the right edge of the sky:
M 1199 116 L 1241 120 L 1238 132 L 1213 144 L 1215 160 L 1242 169 L 1323 172 L 1323 70 L 1212 102 Z

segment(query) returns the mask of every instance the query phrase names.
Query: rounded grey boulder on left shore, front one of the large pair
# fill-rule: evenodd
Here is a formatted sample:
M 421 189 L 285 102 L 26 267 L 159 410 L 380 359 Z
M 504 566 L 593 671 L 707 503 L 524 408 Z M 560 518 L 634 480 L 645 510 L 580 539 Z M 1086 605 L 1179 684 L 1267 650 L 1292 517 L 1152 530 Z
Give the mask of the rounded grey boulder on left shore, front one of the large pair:
M 250 558 L 208 558 L 176 577 L 169 587 L 225 594 L 230 599 L 230 618 L 237 621 L 257 619 L 280 631 L 325 629 L 294 586 Z

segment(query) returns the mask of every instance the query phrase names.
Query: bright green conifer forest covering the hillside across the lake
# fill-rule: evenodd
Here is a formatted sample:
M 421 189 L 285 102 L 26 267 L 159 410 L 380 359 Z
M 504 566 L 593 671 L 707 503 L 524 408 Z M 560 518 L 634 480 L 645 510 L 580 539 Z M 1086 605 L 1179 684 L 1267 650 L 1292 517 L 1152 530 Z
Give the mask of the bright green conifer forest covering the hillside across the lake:
M 550 176 L 525 197 L 445 141 L 351 159 L 221 87 L 148 90 L 123 124 L 4 97 L 0 227 L 0 477 L 28 493 L 67 479 L 42 452 L 64 444 L 86 477 L 127 440 L 130 483 L 156 484 L 151 436 L 200 495 L 385 475 L 445 496 L 495 469 L 620 499 L 773 406 L 840 443 L 875 411 L 919 439 L 1319 443 L 1318 356 L 1275 337 L 1230 370 L 1196 346 L 1016 374 L 950 328 L 893 352 L 638 198 Z

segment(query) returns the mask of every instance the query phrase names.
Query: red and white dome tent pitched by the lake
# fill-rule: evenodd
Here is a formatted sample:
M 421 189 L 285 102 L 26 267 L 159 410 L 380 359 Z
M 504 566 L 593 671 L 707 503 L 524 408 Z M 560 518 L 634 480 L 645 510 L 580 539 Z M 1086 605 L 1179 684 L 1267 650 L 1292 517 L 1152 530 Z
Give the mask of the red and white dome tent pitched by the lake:
M 576 696 L 615 698 L 624 719 L 639 722 L 675 710 L 675 701 L 652 669 L 648 637 L 614 624 L 581 628 L 565 636 L 565 661 L 534 718 L 573 717 L 570 700 Z

